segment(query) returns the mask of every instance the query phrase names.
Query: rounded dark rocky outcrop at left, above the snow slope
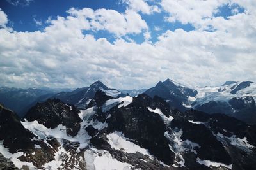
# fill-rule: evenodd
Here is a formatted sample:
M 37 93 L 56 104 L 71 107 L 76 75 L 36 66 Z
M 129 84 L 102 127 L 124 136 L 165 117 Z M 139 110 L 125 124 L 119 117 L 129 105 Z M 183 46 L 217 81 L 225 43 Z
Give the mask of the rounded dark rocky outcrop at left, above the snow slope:
M 67 134 L 76 136 L 82 121 L 78 116 L 79 110 L 69 106 L 60 99 L 48 99 L 44 103 L 38 103 L 25 115 L 29 122 L 37 120 L 47 128 L 55 128 L 60 124 L 67 127 Z

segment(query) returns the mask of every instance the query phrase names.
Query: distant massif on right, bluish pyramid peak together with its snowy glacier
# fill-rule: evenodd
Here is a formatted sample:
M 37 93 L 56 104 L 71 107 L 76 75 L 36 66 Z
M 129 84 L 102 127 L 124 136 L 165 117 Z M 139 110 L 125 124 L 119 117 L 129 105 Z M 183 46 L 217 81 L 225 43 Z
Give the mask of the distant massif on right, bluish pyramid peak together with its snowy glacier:
M 251 81 L 227 81 L 217 87 L 191 89 L 167 79 L 146 90 L 145 94 L 163 97 L 173 109 L 225 113 L 248 124 L 256 124 L 256 83 Z

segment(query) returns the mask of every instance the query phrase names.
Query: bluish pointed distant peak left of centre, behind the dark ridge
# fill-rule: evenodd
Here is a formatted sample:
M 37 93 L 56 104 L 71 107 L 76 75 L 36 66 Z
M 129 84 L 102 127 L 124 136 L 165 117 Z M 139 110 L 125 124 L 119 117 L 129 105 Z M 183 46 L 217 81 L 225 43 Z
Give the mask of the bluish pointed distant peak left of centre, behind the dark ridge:
M 98 90 L 102 90 L 103 92 L 112 97 L 125 96 L 124 94 L 122 94 L 122 92 L 116 89 L 106 87 L 106 85 L 104 85 L 101 81 L 95 81 L 94 83 L 92 83 L 92 85 L 90 85 L 90 87 L 78 88 L 72 92 L 61 92 L 55 94 L 51 98 L 58 98 L 65 103 L 74 104 L 78 108 L 84 109 L 86 108 L 86 106 L 88 106 L 90 100 L 92 100 L 95 92 L 97 92 Z

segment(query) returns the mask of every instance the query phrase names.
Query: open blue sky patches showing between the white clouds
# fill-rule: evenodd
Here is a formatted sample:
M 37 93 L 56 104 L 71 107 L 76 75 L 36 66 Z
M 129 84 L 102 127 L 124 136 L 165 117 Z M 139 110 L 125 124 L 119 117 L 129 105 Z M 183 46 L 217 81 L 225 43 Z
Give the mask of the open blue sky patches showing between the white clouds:
M 148 2 L 148 4 L 156 4 L 156 2 Z M 13 5 L 15 4 L 15 5 Z M 50 0 L 37 0 L 37 1 L 26 1 L 26 0 L 4 0 L 1 2 L 0 8 L 8 15 L 10 25 L 15 31 L 37 31 L 44 30 L 44 27 L 48 24 L 45 21 L 49 18 L 56 18 L 56 16 L 67 17 L 67 10 L 70 8 L 92 8 L 97 10 L 99 8 L 116 10 L 120 13 L 124 13 L 126 6 L 121 0 L 74 0 L 74 1 L 50 1 Z M 216 13 L 216 16 L 223 16 L 227 18 L 232 15 L 231 10 L 235 6 L 228 6 L 224 4 L 218 8 L 220 11 Z M 239 6 L 238 6 L 239 7 Z M 239 13 L 243 12 L 243 8 L 239 7 Z M 152 42 L 157 41 L 157 37 L 167 30 L 175 31 L 175 29 L 184 29 L 185 31 L 194 30 L 192 24 L 182 24 L 181 22 L 165 22 L 163 18 L 168 15 L 165 11 L 161 13 L 154 13 L 154 15 L 147 15 L 140 12 L 141 17 L 145 20 L 150 28 L 152 35 Z M 36 21 L 42 23 L 42 25 L 36 24 Z M 154 29 L 155 27 L 161 28 L 160 30 Z M 109 34 L 108 31 L 84 31 L 84 34 L 93 34 L 95 38 L 105 37 L 109 41 L 115 41 L 113 34 Z M 136 43 L 143 43 L 145 40 L 142 34 L 131 34 L 129 38 L 132 38 Z

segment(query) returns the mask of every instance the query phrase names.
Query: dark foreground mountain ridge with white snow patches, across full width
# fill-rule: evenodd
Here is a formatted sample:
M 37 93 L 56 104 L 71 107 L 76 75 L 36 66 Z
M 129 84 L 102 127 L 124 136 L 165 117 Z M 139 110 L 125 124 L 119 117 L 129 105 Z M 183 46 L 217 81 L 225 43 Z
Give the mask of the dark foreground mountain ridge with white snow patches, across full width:
M 117 98 L 98 90 L 84 110 L 49 99 L 24 118 L 0 110 L 0 167 L 255 169 L 255 125 L 172 110 L 158 96 Z

